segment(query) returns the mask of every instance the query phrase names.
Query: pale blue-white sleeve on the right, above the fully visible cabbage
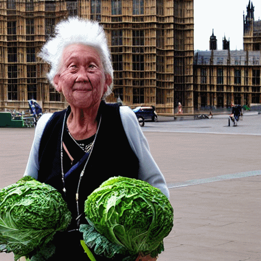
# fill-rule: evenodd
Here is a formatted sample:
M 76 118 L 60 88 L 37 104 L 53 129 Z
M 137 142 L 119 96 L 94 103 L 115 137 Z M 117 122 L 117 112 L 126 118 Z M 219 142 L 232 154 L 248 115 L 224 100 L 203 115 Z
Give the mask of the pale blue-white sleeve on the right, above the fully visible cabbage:
M 139 179 L 162 191 L 169 198 L 165 178 L 149 150 L 135 113 L 127 106 L 120 107 L 120 116 L 129 144 L 139 159 Z

